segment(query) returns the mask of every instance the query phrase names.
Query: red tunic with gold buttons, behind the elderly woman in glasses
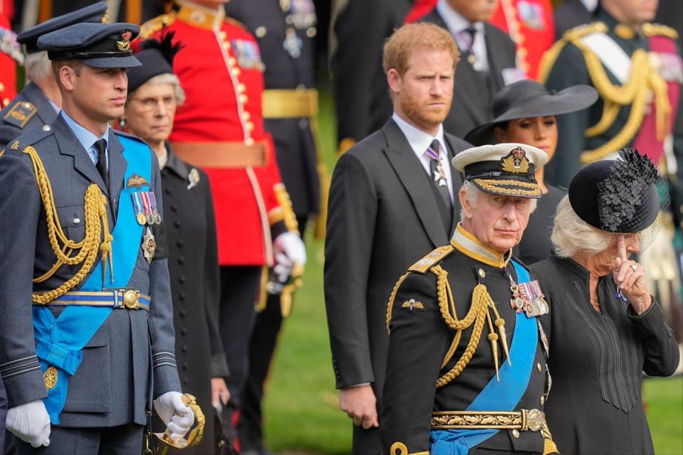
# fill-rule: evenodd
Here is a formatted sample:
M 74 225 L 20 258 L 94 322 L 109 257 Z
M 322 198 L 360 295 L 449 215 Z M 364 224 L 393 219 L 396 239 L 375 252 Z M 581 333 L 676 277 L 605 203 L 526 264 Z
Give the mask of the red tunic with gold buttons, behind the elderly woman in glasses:
M 158 38 L 170 31 L 174 43 L 184 46 L 174 58 L 174 73 L 186 94 L 169 137 L 176 151 L 181 143 L 206 144 L 206 149 L 225 143 L 266 145 L 265 166 L 201 166 L 209 175 L 216 208 L 218 261 L 272 264 L 272 237 L 287 230 L 283 219 L 291 208 L 272 139 L 263 129 L 263 63 L 256 40 L 226 18 L 222 6 L 216 11 L 186 1 L 145 23 L 140 36 Z

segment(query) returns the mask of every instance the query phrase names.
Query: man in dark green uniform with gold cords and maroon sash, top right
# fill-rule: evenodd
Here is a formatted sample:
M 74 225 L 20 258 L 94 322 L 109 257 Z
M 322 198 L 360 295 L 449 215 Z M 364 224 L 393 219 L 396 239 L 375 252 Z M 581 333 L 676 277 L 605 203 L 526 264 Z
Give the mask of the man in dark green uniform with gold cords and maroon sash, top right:
M 548 183 L 567 187 L 581 166 L 631 147 L 647 154 L 667 177 L 671 210 L 662 217 L 667 228 L 641 259 L 680 343 L 680 270 L 671 239 L 675 232 L 681 245 L 683 64 L 677 32 L 648 22 L 656 12 L 657 1 L 600 1 L 595 22 L 566 32 L 546 53 L 539 80 L 549 90 L 588 84 L 600 98 L 588 109 L 558 117 L 557 152 L 545 176 Z

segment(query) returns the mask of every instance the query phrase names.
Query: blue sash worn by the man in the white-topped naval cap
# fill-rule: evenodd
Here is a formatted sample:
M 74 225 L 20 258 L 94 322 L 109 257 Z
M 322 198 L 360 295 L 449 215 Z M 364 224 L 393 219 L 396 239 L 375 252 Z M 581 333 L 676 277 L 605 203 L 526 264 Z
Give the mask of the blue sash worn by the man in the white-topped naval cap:
M 524 267 L 511 261 L 517 272 L 517 283 L 531 280 Z M 536 318 L 526 317 L 524 311 L 517 313 L 514 320 L 510 362 L 504 362 L 498 370 L 500 380 L 494 376 L 474 401 L 468 411 L 514 411 L 517 403 L 526 392 L 531 378 L 531 368 L 536 357 L 538 332 Z M 467 455 L 477 444 L 499 432 L 497 429 L 438 429 L 430 432 L 430 454 Z

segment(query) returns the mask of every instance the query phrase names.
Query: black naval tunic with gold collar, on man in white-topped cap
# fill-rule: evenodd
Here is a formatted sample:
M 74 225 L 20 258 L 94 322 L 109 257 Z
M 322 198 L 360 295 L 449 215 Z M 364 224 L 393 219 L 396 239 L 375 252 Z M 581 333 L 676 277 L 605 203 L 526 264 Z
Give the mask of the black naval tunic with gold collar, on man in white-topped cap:
M 458 231 L 462 232 L 460 225 Z M 455 240 L 458 231 L 452 242 L 459 245 L 462 251 L 450 245 L 440 247 L 435 252 L 438 252 L 438 259 L 443 260 L 433 259 L 433 252 L 423 259 L 428 266 L 420 266 L 422 261 L 416 263 L 411 267 L 415 271 L 410 272 L 400 285 L 389 308 L 387 321 L 391 321 L 388 322 L 391 332 L 380 425 L 385 454 L 394 454 L 390 448 L 396 442 L 405 444 L 408 454 L 427 454 L 430 449 L 432 413 L 467 410 L 482 388 L 496 375 L 492 348 L 487 339 L 489 329 L 485 323 L 470 363 L 451 382 L 435 388 L 438 378 L 460 359 L 472 335 L 471 326 L 463 331 L 455 355 L 445 368 L 441 368 L 455 330 L 446 325 L 440 311 L 437 276 L 432 272 L 436 266 L 448 272 L 458 319 L 465 319 L 470 310 L 472 290 L 479 283 L 485 284 L 499 315 L 505 321 L 508 346 L 512 347 L 514 343 L 512 333 L 517 314 L 510 305 L 512 292 L 509 279 L 502 269 L 504 259 L 482 245 L 473 251 L 458 244 Z M 475 257 L 484 259 L 486 263 Z M 423 271 L 417 270 L 420 267 Z M 507 269 L 517 282 L 512 264 L 508 264 Z M 485 277 L 482 278 L 482 275 Z M 413 305 L 411 300 L 414 300 Z M 514 410 L 543 410 L 547 373 L 541 336 L 538 339 L 526 392 Z M 500 342 L 498 355 L 499 366 L 502 367 L 505 355 Z M 499 453 L 522 451 L 540 454 L 544 452 L 544 438 L 541 432 L 504 429 L 475 446 L 475 451 L 470 453 L 477 453 L 480 449 L 501 451 Z

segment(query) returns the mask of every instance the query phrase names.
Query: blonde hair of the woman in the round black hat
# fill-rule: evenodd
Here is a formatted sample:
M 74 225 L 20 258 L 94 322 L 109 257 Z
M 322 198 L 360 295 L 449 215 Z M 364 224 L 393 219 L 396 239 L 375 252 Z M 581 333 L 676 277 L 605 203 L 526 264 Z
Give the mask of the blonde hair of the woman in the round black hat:
M 573 257 L 583 251 L 596 255 L 608 249 L 613 235 L 594 228 L 576 215 L 569 196 L 564 196 L 557 205 L 553 234 L 550 237 L 559 257 Z

